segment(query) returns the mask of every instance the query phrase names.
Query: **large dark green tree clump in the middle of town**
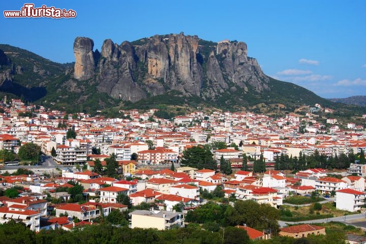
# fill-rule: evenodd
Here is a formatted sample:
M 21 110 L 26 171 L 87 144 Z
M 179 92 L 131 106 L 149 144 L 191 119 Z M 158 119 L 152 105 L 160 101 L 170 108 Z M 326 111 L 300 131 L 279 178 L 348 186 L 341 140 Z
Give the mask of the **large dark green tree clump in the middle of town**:
M 213 156 L 214 154 L 211 153 L 209 147 L 206 145 L 193 146 L 192 148 L 183 151 L 180 164 L 182 166 L 189 166 L 198 169 L 216 169 L 217 163 Z

